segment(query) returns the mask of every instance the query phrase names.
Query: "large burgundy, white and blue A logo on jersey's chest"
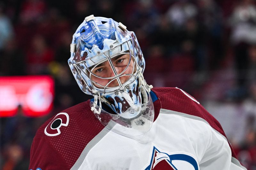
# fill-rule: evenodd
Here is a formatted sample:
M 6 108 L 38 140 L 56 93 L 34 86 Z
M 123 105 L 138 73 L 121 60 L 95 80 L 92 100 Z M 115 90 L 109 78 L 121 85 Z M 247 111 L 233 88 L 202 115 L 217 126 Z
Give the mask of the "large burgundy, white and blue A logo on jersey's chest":
M 160 152 L 155 146 L 150 159 L 149 165 L 145 170 L 198 170 L 198 163 L 193 156 L 187 152 L 172 152 L 167 154 Z

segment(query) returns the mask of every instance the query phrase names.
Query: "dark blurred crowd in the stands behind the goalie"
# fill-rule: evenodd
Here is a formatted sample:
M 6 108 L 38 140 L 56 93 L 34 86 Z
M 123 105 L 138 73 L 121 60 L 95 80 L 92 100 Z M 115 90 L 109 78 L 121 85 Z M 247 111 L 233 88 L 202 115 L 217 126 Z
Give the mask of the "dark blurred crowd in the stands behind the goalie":
M 240 161 L 256 169 L 256 2 L 253 0 L 2 0 L 0 76 L 51 75 L 54 108 L 31 118 L 19 107 L 0 118 L 0 169 L 28 169 L 36 130 L 92 98 L 67 60 L 86 16 L 122 22 L 137 35 L 153 86 L 179 87 L 221 123 Z M 8 99 L 7 99 L 8 100 Z

